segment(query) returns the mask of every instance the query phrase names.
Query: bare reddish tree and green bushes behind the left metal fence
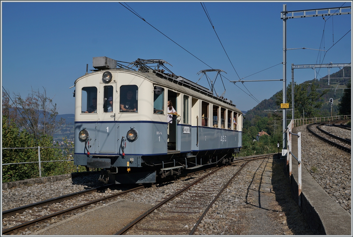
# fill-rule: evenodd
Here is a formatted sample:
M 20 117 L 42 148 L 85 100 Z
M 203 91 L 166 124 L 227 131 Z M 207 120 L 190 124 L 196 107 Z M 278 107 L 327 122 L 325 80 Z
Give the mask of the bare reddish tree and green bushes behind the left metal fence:
M 40 91 L 33 91 L 25 98 L 15 95 L 14 103 L 10 104 L 7 93 L 2 93 L 2 147 L 26 149 L 3 149 L 2 164 L 38 162 L 38 146 L 59 147 L 53 145 L 53 134 L 60 130 L 60 120 L 56 104 Z M 14 108 L 16 107 L 16 108 Z M 73 147 L 71 142 L 64 140 L 65 147 Z M 73 148 L 41 148 L 41 174 L 52 176 L 76 171 L 73 162 L 43 162 L 52 160 L 70 160 Z M 24 180 L 39 177 L 38 163 L 12 164 L 2 166 L 2 182 Z

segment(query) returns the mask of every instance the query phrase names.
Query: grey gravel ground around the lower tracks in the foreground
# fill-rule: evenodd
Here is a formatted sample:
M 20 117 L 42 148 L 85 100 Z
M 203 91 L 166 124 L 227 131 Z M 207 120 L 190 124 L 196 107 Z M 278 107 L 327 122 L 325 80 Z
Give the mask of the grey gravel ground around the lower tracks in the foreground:
M 239 165 L 240 166 L 240 165 Z M 266 159 L 250 162 L 240 176 L 226 189 L 221 195 L 219 200 L 214 204 L 211 210 L 202 220 L 202 225 L 197 229 L 198 235 L 254 235 L 254 234 L 271 234 L 271 235 L 310 235 L 312 232 L 306 225 L 304 218 L 294 201 L 291 199 L 288 181 L 283 175 L 283 163 L 279 159 Z M 228 171 L 227 171 L 228 170 Z M 274 172 L 273 172 L 274 170 Z M 234 174 L 234 169 L 225 168 L 224 172 L 231 172 Z M 146 208 L 155 205 L 162 201 L 164 198 L 176 192 L 183 187 L 186 183 L 195 180 L 197 177 L 203 176 L 204 173 L 193 175 L 190 177 L 180 178 L 167 183 L 158 183 L 152 185 L 150 188 L 141 189 L 128 193 L 124 196 L 119 196 L 111 202 L 101 203 L 101 205 L 92 206 L 89 210 L 72 213 L 64 217 L 55 217 L 45 223 L 38 223 L 25 231 L 20 231 L 18 234 L 22 235 L 104 235 L 111 234 L 115 231 L 112 226 L 106 226 L 103 229 L 107 231 L 90 230 L 88 227 L 94 228 L 97 221 L 107 223 L 108 220 L 99 213 L 111 210 L 106 209 L 114 207 L 112 203 L 119 203 L 119 212 L 114 212 L 114 218 L 117 220 L 117 226 L 125 225 L 129 218 L 126 213 L 132 215 L 139 215 L 136 208 L 131 208 L 131 202 L 136 203 L 136 207 L 141 207 L 143 211 Z M 9 206 L 23 206 L 25 205 L 25 197 L 33 194 L 32 201 L 41 200 L 40 190 L 47 190 L 46 196 L 59 196 L 63 195 L 64 190 L 74 190 L 75 192 L 85 188 L 96 186 L 95 180 L 97 176 L 80 177 L 80 181 L 74 183 L 71 179 L 62 180 L 55 183 L 37 184 L 33 186 L 16 187 L 4 190 L 3 209 L 10 209 Z M 55 187 L 53 187 L 55 186 Z M 29 192 L 27 192 L 29 191 Z M 36 192 L 36 194 L 34 194 Z M 41 191 L 42 192 L 42 191 Z M 115 192 L 115 190 L 109 190 Z M 13 193 L 21 196 L 23 200 L 15 197 Z M 30 194 L 31 193 L 31 194 Z M 285 200 L 285 201 L 283 201 Z M 20 203 L 19 203 L 20 202 Z M 125 204 L 124 204 L 125 203 Z M 29 204 L 29 203 L 27 203 Z M 72 203 L 74 205 L 75 203 Z M 91 213 L 91 214 L 85 214 Z M 94 214 L 95 213 L 95 214 Z M 160 217 L 161 213 L 153 213 Z M 89 218 L 91 215 L 92 218 Z M 22 214 L 16 215 L 13 218 L 21 218 Z M 84 218 L 84 219 L 82 219 Z M 90 225 L 90 220 L 92 224 Z M 119 220 L 119 221 L 118 221 Z M 78 227 L 79 223 L 84 222 L 83 226 L 86 228 Z M 62 224 L 60 224 L 62 223 Z M 76 224 L 70 224 L 76 223 Z M 120 223 L 120 224 L 119 224 Z M 60 224 L 60 227 L 55 227 Z M 105 224 L 104 224 L 105 225 Z M 3 225 L 3 228 L 6 228 Z M 192 228 L 189 226 L 188 228 Z M 94 228 L 96 229 L 96 228 Z M 85 230 L 86 232 L 84 232 Z M 109 231 L 108 231 L 109 230 Z M 39 232 L 38 232 L 39 231 Z M 117 231 L 117 230 L 116 230 Z M 140 233 L 149 234 L 149 233 Z M 154 233 L 156 234 L 156 233 Z

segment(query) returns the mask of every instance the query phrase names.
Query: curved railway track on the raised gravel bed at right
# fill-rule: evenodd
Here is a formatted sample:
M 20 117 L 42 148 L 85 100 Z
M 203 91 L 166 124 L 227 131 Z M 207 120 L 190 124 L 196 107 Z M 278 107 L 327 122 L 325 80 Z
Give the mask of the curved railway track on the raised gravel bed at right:
M 328 124 L 328 122 L 312 123 L 307 125 L 307 129 L 317 138 L 327 142 L 330 145 L 336 146 L 343 151 L 351 153 L 351 140 L 340 138 L 323 130 L 321 127 Z

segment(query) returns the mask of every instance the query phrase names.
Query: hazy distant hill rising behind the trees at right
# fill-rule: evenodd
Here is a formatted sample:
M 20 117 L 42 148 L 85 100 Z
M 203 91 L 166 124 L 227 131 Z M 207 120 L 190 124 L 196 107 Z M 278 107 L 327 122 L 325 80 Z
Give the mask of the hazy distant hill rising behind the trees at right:
M 344 74 L 344 77 L 343 77 Z M 340 103 L 340 99 L 343 96 L 343 89 L 347 84 L 346 83 L 351 78 L 351 68 L 345 67 L 338 72 L 330 74 L 330 85 L 328 85 L 328 75 L 320 79 L 312 79 L 308 81 L 304 81 L 303 83 L 318 83 L 321 89 L 330 89 L 328 93 L 326 93 L 322 97 L 322 101 L 324 102 L 323 107 L 321 108 L 321 116 L 330 116 L 331 115 L 331 107 L 329 104 L 329 99 L 334 99 L 334 106 L 332 108 L 332 115 L 337 115 L 337 105 Z M 295 80 L 294 80 L 295 82 Z M 337 88 L 337 89 L 336 89 Z M 281 90 L 282 91 L 282 90 Z M 279 92 L 281 92 L 279 91 Z M 277 93 L 279 93 L 277 92 Z M 246 112 L 245 119 L 252 120 L 256 115 L 260 117 L 265 117 L 268 115 L 269 111 L 265 110 L 277 110 L 281 109 L 279 105 L 276 105 L 276 94 L 271 96 L 269 99 L 264 99 L 260 104 L 256 105 L 253 109 L 250 109 Z M 289 105 L 291 107 L 291 105 Z M 273 112 L 273 111 L 271 111 Z M 281 113 L 281 112 L 280 112 Z

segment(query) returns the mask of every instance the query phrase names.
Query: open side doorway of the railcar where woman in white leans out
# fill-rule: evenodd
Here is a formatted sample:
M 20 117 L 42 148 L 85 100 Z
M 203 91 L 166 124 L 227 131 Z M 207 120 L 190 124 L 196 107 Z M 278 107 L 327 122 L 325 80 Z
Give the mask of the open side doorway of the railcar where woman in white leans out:
M 170 91 L 168 90 L 168 101 L 172 102 L 172 105 L 173 105 L 173 108 L 175 111 L 177 111 L 177 97 L 178 97 L 178 94 L 177 92 L 174 92 L 174 91 Z M 167 107 L 168 107 L 168 103 L 167 103 Z M 169 113 L 169 110 L 167 108 L 167 111 Z M 178 112 L 178 111 L 177 111 Z M 177 150 L 177 141 L 178 141 L 178 138 L 177 138 L 177 126 L 178 126 L 178 123 L 177 123 L 177 116 L 176 115 L 171 115 L 171 114 L 168 114 L 167 116 L 167 119 L 168 119 L 168 150 Z M 171 121 L 170 121 L 171 119 Z

